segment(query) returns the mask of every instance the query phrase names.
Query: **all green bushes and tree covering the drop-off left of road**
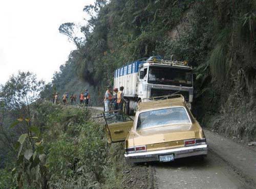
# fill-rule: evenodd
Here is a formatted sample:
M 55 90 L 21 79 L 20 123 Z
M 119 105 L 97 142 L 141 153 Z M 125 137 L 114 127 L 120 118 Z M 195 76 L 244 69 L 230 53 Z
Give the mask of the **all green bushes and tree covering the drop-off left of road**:
M 19 72 L 1 88 L 1 188 L 112 188 L 122 145 L 108 145 L 88 110 L 38 99 L 43 84 Z

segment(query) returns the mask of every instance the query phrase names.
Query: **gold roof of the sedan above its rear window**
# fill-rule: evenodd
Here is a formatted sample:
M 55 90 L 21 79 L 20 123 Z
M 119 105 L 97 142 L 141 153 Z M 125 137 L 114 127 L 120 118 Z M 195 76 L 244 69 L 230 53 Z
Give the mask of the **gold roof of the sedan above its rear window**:
M 177 98 L 169 98 L 164 100 L 149 100 L 145 102 L 140 102 L 138 104 L 138 112 L 150 110 L 150 109 L 159 109 L 161 107 L 172 107 L 172 106 L 184 106 L 186 107 L 186 102 L 184 97 L 180 95 Z

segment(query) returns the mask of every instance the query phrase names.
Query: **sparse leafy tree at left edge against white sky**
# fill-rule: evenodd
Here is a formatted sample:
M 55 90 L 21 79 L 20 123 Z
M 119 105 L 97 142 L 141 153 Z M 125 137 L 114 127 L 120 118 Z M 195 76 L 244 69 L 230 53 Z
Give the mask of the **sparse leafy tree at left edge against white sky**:
M 0 143 L 8 147 L 8 150 L 14 150 L 13 144 L 15 136 L 28 131 L 31 122 L 24 127 L 14 128 L 15 124 L 22 125 L 17 121 L 18 118 L 30 118 L 30 104 L 38 99 L 38 94 L 44 86 L 43 81 L 37 81 L 36 75 L 30 72 L 18 72 L 12 75 L 4 86 L 0 89 Z M 13 122 L 11 125 L 8 122 Z M 14 120 L 14 121 L 11 121 Z M 13 135 L 13 132 L 16 133 Z M 14 137 L 12 137 L 14 136 Z

